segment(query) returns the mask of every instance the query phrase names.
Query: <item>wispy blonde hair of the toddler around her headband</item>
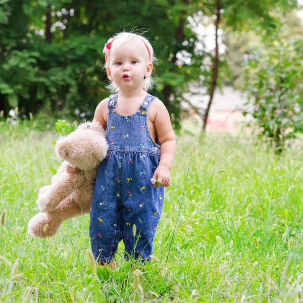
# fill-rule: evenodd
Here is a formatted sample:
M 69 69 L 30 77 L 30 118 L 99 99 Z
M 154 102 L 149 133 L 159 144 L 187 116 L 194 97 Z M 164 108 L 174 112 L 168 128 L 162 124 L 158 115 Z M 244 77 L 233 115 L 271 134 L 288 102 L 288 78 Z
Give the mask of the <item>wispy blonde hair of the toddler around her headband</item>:
M 142 34 L 134 34 L 132 32 L 121 32 L 112 37 L 113 42 L 112 44 L 116 46 L 120 46 L 126 42 L 134 41 L 135 39 L 140 39 L 146 46 L 145 52 L 146 56 L 148 56 L 148 62 L 151 62 L 154 64 L 154 62 L 157 61 L 157 58 L 154 54 L 153 46 L 149 43 L 149 41 L 142 35 Z M 148 48 L 148 50 L 147 50 Z M 150 55 L 150 56 L 149 56 Z M 105 62 L 104 68 L 108 66 L 108 62 Z M 142 88 L 145 91 L 148 91 L 153 88 L 154 85 L 157 85 L 157 82 L 151 78 L 151 75 L 149 77 L 146 77 L 146 79 L 143 80 Z M 110 84 L 105 86 L 107 89 L 109 89 L 112 93 L 119 92 L 119 86 L 114 82 L 114 80 L 110 80 Z

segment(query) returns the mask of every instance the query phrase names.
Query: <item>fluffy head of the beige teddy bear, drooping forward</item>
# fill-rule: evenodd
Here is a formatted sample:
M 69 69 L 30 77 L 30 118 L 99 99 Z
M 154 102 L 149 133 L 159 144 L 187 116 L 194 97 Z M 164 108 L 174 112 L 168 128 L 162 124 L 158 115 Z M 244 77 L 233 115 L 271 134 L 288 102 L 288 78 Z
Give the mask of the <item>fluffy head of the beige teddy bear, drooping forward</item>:
M 75 131 L 58 139 L 57 156 L 83 171 L 95 169 L 107 156 L 108 143 L 102 125 L 93 120 L 81 123 Z

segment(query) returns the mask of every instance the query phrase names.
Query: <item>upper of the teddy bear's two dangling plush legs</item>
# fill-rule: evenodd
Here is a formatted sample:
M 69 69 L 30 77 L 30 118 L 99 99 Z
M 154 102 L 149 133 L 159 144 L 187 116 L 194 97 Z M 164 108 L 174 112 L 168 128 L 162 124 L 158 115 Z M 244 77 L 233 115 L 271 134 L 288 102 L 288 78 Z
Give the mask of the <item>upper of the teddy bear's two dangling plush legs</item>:
M 38 196 L 37 204 L 42 213 L 53 212 L 56 207 L 83 183 L 80 174 L 65 173 L 51 187 Z

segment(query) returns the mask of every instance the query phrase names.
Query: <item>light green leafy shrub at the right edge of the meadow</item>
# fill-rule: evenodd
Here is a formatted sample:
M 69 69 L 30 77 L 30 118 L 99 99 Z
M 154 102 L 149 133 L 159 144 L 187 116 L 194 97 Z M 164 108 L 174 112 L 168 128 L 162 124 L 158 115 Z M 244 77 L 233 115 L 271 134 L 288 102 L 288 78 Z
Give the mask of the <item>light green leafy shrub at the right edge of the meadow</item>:
M 303 132 L 303 39 L 281 39 L 273 32 L 264 40 L 267 47 L 255 49 L 246 63 L 243 90 L 253 100 L 259 137 L 268 138 L 280 153 L 286 140 Z

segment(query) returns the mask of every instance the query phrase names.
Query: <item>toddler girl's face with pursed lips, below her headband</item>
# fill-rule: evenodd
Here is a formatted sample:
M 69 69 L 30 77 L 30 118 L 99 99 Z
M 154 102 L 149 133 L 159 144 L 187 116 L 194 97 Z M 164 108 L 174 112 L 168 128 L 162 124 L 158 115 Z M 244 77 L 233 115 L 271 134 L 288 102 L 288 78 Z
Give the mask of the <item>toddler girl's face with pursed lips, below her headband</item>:
M 139 39 L 112 46 L 106 71 L 120 89 L 142 87 L 144 76 L 148 77 L 152 70 L 146 46 Z M 123 77 L 125 74 L 129 77 Z

